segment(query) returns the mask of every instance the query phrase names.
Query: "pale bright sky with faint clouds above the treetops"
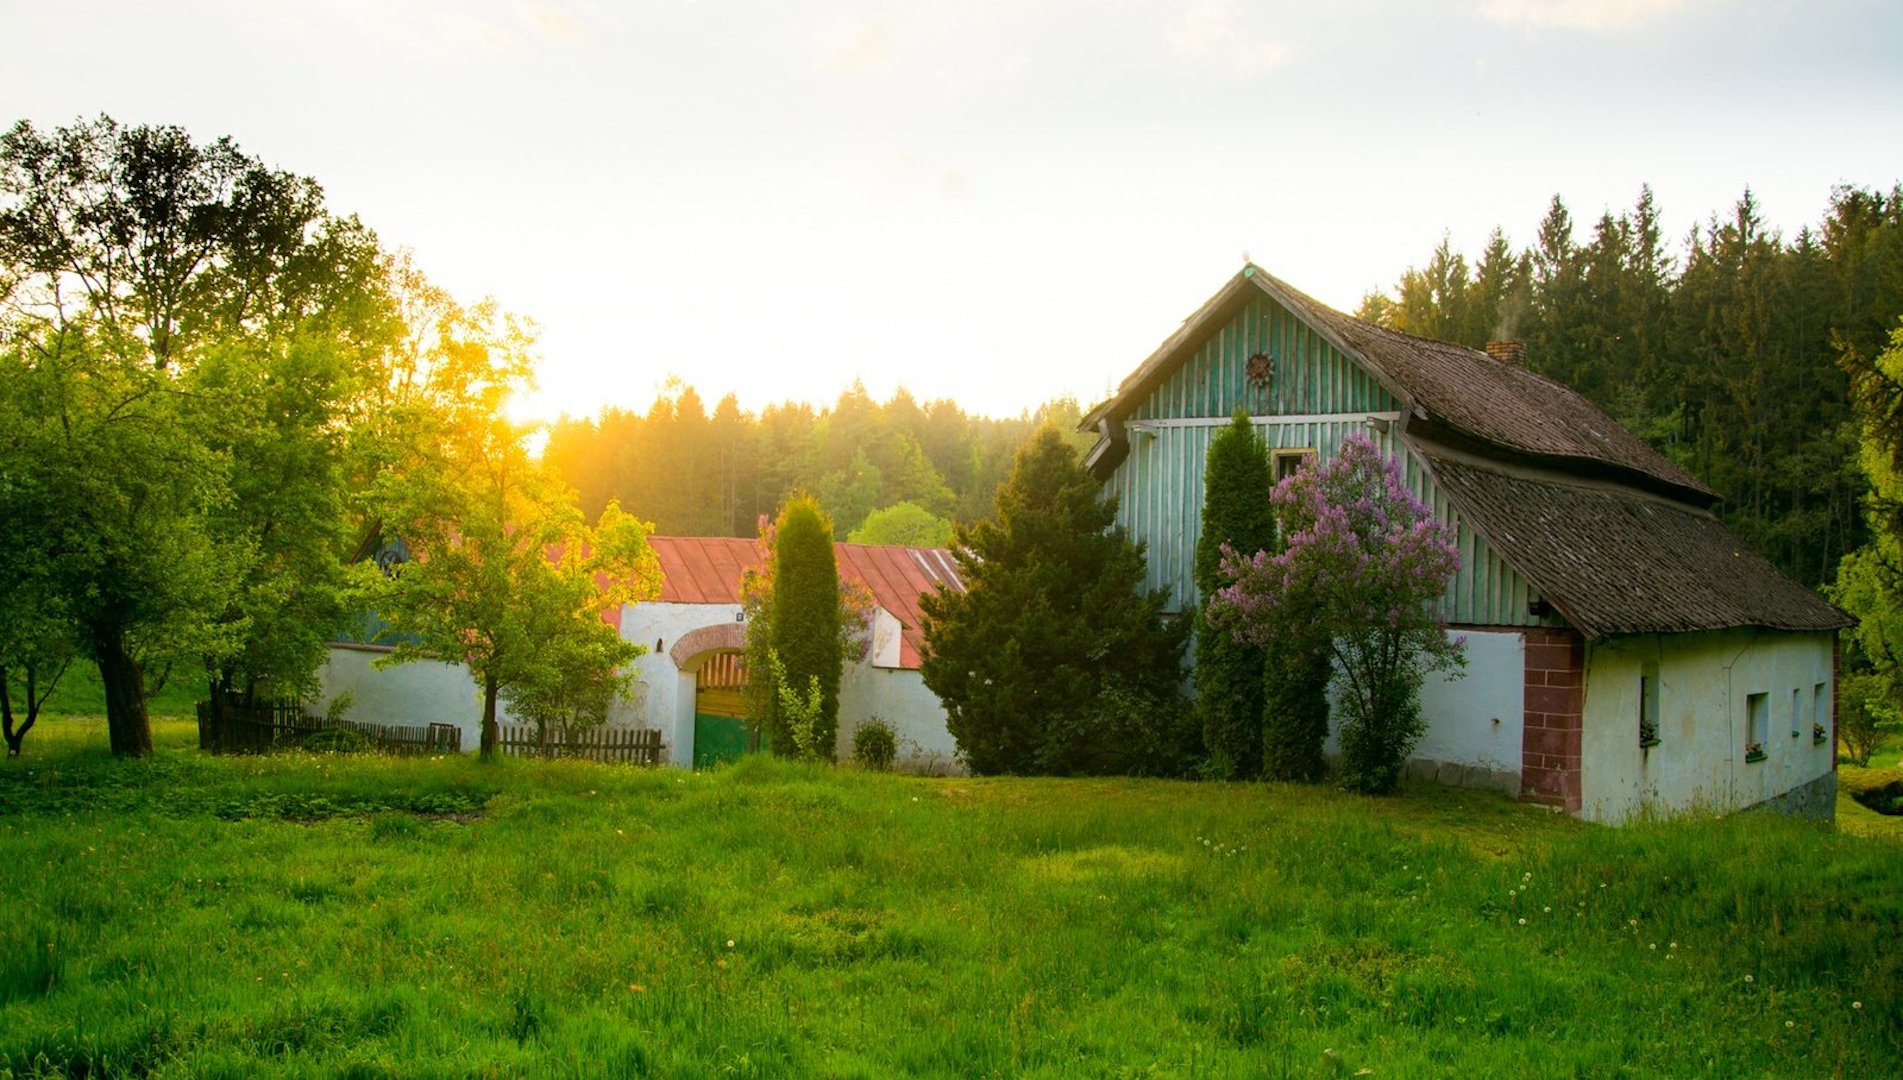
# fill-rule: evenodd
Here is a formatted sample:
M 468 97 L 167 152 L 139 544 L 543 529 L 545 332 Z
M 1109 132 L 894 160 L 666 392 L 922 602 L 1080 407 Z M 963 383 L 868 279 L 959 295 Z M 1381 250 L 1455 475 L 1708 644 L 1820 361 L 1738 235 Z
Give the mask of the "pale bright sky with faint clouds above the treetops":
M 0 0 L 0 122 L 230 135 L 540 327 L 520 416 L 1090 405 L 1245 255 L 1817 222 L 1903 181 L 1893 0 Z

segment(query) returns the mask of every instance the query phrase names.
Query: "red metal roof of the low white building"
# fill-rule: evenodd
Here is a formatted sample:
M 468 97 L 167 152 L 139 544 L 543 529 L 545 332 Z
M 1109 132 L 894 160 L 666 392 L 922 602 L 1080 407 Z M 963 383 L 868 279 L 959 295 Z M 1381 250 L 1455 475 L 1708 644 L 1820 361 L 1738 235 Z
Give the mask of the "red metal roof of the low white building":
M 736 605 L 740 576 L 757 570 L 765 559 L 759 540 L 736 536 L 649 536 L 660 557 L 660 601 L 677 605 Z M 915 669 L 925 645 L 919 629 L 919 595 L 927 589 L 965 591 L 957 563 L 942 548 L 898 548 L 885 544 L 834 544 L 839 576 L 862 582 L 873 603 L 900 626 L 898 665 Z

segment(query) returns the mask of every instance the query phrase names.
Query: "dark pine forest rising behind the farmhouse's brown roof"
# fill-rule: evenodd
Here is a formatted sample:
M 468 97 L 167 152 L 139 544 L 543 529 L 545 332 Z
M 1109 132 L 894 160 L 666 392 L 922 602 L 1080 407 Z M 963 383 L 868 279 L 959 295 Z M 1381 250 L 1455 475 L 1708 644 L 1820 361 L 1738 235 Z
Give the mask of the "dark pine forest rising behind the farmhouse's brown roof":
M 1867 532 L 1848 371 L 1903 316 L 1903 186 L 1840 186 L 1789 238 L 1747 190 L 1678 243 L 1650 188 L 1587 230 L 1555 196 L 1528 247 L 1496 228 L 1467 262 L 1442 240 L 1361 316 L 1473 348 L 1526 342 L 1528 367 L 1711 485 L 1722 517 L 1817 586 Z

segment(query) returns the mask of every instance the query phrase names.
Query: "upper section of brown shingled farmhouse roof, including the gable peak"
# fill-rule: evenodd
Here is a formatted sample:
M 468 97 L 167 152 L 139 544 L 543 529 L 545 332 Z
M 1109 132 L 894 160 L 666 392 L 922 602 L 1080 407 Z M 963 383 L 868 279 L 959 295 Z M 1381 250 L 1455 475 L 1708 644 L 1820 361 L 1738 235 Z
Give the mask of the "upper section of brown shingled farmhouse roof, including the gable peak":
M 1189 357 L 1203 335 L 1218 329 L 1254 293 L 1283 304 L 1344 356 L 1361 363 L 1406 403 L 1414 422 L 1452 428 L 1456 434 L 1551 468 L 1623 473 L 1623 479 L 1690 502 L 1717 500 L 1709 487 L 1671 464 L 1576 390 L 1479 350 L 1387 331 L 1344 316 L 1254 264 L 1245 266 L 1208 304 L 1189 316 L 1176 335 L 1123 380 L 1109 401 L 1092 409 L 1085 416 L 1085 428 L 1127 416 L 1151 388 Z

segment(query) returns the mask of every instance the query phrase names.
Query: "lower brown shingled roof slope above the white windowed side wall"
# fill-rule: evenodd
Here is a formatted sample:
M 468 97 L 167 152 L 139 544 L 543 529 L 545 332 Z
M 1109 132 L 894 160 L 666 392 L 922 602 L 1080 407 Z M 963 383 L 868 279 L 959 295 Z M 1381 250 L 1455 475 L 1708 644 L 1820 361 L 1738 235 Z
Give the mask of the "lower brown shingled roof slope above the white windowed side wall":
M 1855 622 L 1705 510 L 1414 449 L 1467 523 L 1587 637 Z

